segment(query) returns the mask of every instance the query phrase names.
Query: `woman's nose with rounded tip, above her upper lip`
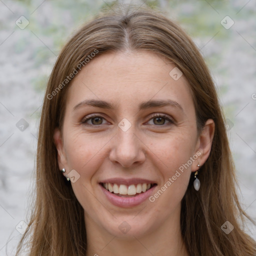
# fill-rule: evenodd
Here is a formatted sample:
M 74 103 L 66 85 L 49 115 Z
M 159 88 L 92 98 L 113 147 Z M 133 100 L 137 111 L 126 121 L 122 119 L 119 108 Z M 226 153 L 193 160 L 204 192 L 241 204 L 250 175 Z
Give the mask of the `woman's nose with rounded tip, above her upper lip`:
M 112 162 L 121 164 L 123 167 L 130 167 L 145 160 L 146 146 L 132 126 L 134 127 L 134 125 L 131 125 L 126 131 L 118 127 L 117 133 L 112 140 L 113 144 L 109 159 Z

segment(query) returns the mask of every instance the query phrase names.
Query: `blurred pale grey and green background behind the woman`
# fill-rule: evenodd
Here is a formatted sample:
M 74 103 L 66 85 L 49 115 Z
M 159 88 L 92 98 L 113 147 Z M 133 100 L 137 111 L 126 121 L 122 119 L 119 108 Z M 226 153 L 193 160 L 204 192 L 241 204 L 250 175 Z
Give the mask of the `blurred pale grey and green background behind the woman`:
M 114 2 L 0 0 L 0 255 L 14 255 L 27 222 L 41 104 L 58 53 Z M 256 220 L 256 1 L 121 2 L 161 9 L 197 44 L 225 113 L 239 197 Z M 254 225 L 248 222 L 246 230 L 256 239 Z

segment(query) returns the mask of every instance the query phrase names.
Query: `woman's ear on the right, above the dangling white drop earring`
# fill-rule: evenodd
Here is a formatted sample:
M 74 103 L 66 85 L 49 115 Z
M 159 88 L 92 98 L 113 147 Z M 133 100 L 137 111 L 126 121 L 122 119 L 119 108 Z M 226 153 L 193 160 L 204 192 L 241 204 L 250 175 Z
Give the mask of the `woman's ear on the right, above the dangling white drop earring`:
M 208 119 L 205 122 L 202 128 L 202 131 L 197 139 L 197 143 L 195 147 L 196 151 L 194 153 L 198 155 L 198 158 L 193 162 L 191 171 L 198 170 L 199 167 L 197 166 L 197 164 L 200 164 L 202 166 L 204 162 L 207 160 L 210 154 L 214 130 L 215 130 L 214 121 L 212 119 Z

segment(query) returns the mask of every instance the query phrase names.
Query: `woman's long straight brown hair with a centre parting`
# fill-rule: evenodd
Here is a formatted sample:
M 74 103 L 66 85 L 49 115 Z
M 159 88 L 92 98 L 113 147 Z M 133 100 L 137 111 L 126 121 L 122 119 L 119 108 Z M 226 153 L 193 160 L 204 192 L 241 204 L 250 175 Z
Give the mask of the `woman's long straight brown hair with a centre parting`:
M 245 223 L 244 216 L 249 217 L 238 202 L 223 114 L 208 68 L 192 40 L 175 22 L 144 7 L 114 8 L 100 14 L 82 26 L 60 52 L 49 77 L 40 119 L 36 198 L 29 229 L 16 255 L 24 247 L 30 256 L 85 255 L 83 208 L 58 169 L 53 132 L 55 127 L 62 126 L 66 90 L 70 85 L 65 80 L 67 76 L 79 71 L 79 63 L 89 64 L 84 59 L 93 51 L 97 57 L 125 49 L 154 52 L 174 62 L 189 81 L 198 131 L 207 119 L 215 122 L 211 152 L 199 172 L 200 190 L 193 189 L 191 175 L 181 201 L 180 227 L 188 253 L 255 256 L 255 242 L 240 226 L 239 221 Z M 225 221 L 234 227 L 229 234 L 221 229 Z

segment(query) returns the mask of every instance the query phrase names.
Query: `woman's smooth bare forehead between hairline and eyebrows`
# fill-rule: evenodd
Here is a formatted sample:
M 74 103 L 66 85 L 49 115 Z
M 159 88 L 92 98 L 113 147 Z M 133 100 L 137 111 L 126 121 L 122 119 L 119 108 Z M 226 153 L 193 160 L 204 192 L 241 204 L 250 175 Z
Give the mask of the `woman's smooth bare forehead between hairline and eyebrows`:
M 174 69 L 174 71 L 172 71 Z M 116 107 L 141 105 L 149 99 L 169 99 L 187 107 L 192 96 L 186 78 L 173 76 L 175 65 L 152 52 L 115 52 L 91 59 L 72 80 L 67 104 L 101 99 Z M 177 73 L 179 76 L 182 73 Z M 173 77 L 175 79 L 173 79 Z M 117 103 L 118 102 L 118 103 Z

